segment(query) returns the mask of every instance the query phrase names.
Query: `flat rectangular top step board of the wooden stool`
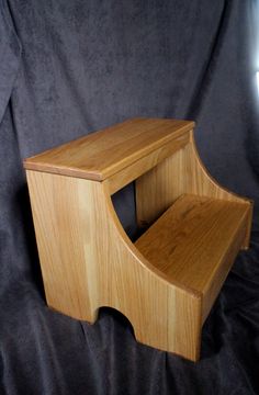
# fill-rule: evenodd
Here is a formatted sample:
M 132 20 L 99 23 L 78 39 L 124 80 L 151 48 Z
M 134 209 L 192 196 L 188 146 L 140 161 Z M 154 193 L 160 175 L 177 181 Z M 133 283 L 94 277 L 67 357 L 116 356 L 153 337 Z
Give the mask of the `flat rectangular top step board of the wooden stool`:
M 102 181 L 194 127 L 192 121 L 133 119 L 24 160 L 24 168 Z

